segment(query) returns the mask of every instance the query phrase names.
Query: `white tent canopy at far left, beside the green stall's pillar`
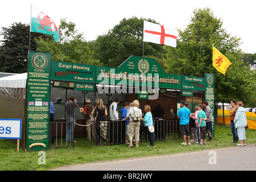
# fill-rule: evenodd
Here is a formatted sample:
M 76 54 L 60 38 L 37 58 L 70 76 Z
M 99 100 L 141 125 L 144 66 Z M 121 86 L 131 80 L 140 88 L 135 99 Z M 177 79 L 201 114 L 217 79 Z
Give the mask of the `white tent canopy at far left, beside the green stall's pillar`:
M 0 94 L 2 96 L 25 99 L 27 73 L 0 78 Z

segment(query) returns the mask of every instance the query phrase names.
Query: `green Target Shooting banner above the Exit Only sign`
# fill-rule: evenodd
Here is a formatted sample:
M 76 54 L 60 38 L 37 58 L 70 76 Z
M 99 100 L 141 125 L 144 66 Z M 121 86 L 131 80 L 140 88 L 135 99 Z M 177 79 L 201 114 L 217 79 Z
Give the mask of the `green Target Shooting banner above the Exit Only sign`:
M 52 61 L 51 80 L 95 83 L 96 66 Z

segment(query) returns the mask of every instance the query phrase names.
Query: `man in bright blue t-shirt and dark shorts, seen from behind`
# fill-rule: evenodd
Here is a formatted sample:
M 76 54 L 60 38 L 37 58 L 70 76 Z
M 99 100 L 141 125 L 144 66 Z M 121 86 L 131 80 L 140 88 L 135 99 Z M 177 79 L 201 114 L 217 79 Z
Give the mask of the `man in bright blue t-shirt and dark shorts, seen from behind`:
M 183 136 L 184 142 L 183 145 L 187 145 L 186 139 L 188 138 L 188 144 L 191 144 L 190 133 L 189 133 L 189 118 L 192 118 L 191 111 L 185 107 L 185 101 L 180 102 L 180 109 L 177 113 L 177 118 L 180 119 L 180 133 Z

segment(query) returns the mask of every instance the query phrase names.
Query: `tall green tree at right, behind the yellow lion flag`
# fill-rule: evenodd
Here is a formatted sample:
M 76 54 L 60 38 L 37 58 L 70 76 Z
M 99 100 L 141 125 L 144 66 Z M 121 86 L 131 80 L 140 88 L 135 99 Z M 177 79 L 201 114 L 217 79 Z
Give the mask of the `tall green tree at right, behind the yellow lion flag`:
M 212 46 L 216 47 L 232 63 L 225 76 L 212 66 Z M 167 72 L 178 75 L 204 77 L 215 75 L 215 101 L 232 99 L 255 103 L 255 72 L 242 60 L 240 38 L 230 36 L 222 21 L 213 16 L 209 8 L 193 11 L 190 24 L 179 30 L 177 47 L 166 48 Z

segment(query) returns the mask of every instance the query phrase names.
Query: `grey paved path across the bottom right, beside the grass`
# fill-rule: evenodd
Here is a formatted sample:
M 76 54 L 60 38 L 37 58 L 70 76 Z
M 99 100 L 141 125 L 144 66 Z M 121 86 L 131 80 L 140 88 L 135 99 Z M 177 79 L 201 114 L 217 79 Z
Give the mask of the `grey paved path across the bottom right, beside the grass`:
M 184 146 L 185 147 L 185 146 Z M 256 170 L 256 146 L 235 146 L 221 149 L 96 162 L 65 166 L 54 171 L 242 171 Z

